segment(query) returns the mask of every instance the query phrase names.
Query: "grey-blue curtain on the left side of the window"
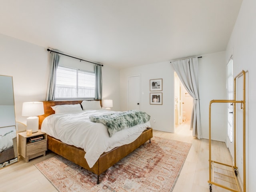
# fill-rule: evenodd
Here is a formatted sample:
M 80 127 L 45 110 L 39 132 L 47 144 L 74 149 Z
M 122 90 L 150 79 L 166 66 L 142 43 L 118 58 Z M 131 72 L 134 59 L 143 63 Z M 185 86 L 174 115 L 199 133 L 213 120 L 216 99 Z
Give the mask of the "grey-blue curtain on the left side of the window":
M 50 52 L 52 61 L 50 66 L 50 74 L 48 78 L 48 88 L 46 94 L 46 101 L 53 101 L 55 99 L 55 86 L 56 86 L 56 72 L 60 60 L 58 53 Z

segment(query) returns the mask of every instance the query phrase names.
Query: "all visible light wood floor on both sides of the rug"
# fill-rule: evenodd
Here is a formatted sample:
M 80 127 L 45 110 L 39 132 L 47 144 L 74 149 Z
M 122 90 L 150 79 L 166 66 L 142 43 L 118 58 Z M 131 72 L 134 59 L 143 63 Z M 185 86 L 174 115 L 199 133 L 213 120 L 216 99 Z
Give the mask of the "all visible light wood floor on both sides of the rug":
M 192 137 L 189 130 L 189 122 L 186 121 L 176 128 L 176 133 L 153 131 L 154 136 L 192 143 L 178 181 L 173 192 L 209 192 L 209 150 L 208 140 L 198 140 Z M 212 142 L 212 160 L 232 164 L 228 149 L 223 142 Z M 34 166 L 46 158 L 54 156 L 48 152 L 30 160 L 24 160 L 0 170 L 1 192 L 57 192 L 52 184 Z M 226 192 L 217 186 L 212 186 L 212 192 Z

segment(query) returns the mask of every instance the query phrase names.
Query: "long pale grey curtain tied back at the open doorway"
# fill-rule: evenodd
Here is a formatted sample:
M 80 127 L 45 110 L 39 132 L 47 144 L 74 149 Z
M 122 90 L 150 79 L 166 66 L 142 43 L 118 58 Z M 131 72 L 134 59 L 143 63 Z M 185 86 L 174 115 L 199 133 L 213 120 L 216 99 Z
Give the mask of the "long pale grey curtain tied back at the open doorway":
M 198 91 L 198 58 L 171 62 L 187 92 L 194 98 L 190 130 L 194 137 L 201 139 L 200 99 Z

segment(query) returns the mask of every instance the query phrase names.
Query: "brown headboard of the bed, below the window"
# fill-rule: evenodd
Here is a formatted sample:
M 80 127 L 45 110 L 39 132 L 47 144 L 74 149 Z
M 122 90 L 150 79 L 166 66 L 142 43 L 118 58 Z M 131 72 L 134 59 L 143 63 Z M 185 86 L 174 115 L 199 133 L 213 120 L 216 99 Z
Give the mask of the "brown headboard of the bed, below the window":
M 97 100 L 98 101 L 98 100 Z M 82 100 L 67 100 L 67 101 L 43 101 L 44 104 L 44 114 L 38 116 L 39 118 L 39 129 L 41 129 L 41 124 L 44 120 L 44 118 L 46 118 L 47 116 L 54 114 L 54 110 L 51 108 L 51 106 L 55 106 L 55 105 L 65 105 L 65 104 L 81 104 Z M 100 100 L 100 104 L 102 106 L 102 102 Z

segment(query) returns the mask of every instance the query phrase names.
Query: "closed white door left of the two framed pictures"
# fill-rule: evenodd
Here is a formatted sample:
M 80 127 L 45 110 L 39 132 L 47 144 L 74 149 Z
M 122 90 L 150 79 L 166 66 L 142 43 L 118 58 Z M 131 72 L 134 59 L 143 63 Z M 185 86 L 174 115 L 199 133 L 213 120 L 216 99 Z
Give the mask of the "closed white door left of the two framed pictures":
M 140 75 L 128 77 L 128 110 L 140 110 Z

